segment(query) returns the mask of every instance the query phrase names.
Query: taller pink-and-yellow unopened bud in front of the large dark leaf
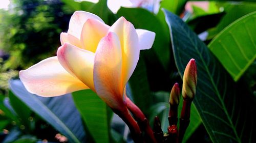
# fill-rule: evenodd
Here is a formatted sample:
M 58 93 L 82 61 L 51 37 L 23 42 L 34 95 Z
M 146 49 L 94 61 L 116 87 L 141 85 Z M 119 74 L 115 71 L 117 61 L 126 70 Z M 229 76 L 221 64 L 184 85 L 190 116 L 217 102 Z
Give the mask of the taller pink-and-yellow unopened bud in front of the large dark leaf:
M 183 87 L 182 87 L 182 97 L 184 99 L 194 99 L 196 94 L 197 85 L 197 65 L 196 60 L 191 59 L 183 74 Z

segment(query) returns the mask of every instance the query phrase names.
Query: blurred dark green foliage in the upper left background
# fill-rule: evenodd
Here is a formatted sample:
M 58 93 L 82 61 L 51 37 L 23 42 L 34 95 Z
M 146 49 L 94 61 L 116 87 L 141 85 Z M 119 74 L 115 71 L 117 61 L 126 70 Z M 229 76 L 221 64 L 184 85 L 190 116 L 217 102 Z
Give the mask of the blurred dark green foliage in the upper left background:
M 10 54 L 3 70 L 25 69 L 55 55 L 59 35 L 67 31 L 70 15 L 60 1 L 13 1 L 0 15 L 0 49 Z

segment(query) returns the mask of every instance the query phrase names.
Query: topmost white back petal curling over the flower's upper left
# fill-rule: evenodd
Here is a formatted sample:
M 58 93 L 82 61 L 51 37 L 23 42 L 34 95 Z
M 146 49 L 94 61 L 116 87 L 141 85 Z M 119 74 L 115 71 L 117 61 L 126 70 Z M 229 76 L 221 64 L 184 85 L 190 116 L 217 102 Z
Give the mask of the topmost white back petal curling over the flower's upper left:
M 97 15 L 85 11 L 76 11 L 70 18 L 68 33 L 80 39 L 83 24 L 88 19 L 95 19 L 104 23 Z

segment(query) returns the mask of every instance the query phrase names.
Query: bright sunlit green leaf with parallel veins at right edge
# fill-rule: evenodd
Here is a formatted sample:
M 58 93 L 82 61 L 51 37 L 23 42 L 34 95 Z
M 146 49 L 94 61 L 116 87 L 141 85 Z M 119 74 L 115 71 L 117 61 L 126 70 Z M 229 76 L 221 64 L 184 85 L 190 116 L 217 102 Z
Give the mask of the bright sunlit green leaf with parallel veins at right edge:
M 208 45 L 234 81 L 256 59 L 256 11 L 227 26 Z

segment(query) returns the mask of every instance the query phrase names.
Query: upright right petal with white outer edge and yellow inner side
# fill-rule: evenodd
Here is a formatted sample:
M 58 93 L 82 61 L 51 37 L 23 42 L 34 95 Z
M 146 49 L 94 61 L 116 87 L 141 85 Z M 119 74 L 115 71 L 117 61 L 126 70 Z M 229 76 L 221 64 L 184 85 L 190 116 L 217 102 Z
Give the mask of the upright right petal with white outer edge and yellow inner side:
M 120 17 L 111 27 L 110 32 L 117 34 L 122 50 L 122 86 L 134 72 L 139 60 L 139 40 L 133 24 Z

